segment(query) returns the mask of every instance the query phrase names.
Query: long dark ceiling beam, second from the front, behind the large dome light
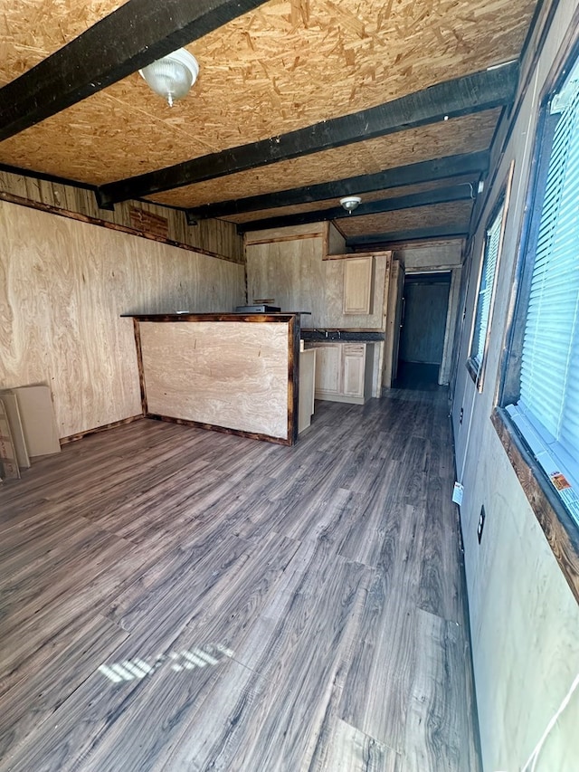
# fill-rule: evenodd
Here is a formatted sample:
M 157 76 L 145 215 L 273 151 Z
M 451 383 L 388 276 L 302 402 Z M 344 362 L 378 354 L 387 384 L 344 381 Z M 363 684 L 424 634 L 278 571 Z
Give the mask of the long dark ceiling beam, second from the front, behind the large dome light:
M 518 62 L 508 62 L 502 67 L 437 83 L 368 110 L 100 186 L 99 203 L 110 206 L 129 198 L 162 193 L 289 158 L 491 110 L 514 100 L 517 81 Z

